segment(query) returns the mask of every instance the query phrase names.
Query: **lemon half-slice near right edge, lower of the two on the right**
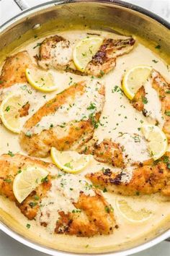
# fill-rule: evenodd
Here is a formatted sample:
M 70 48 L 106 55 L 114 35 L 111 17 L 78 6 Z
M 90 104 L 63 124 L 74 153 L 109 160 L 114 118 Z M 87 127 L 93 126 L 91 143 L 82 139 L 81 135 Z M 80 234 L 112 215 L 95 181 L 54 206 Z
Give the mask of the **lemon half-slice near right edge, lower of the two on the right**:
M 168 141 L 164 132 L 159 127 L 149 124 L 143 124 L 141 131 L 148 140 L 148 147 L 153 159 L 161 158 L 168 148 Z

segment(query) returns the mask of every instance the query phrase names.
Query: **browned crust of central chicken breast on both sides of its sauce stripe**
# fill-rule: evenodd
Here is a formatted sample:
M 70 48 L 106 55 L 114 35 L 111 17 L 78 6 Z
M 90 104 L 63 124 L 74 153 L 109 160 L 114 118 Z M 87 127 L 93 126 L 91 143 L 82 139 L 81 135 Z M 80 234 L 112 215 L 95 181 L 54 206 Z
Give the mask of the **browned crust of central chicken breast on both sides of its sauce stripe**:
M 43 116 L 55 113 L 64 103 L 73 104 L 76 95 L 86 93 L 84 82 L 72 85 L 70 88 L 59 93 L 52 100 L 42 106 L 26 123 L 24 130 L 32 129 L 42 119 Z M 102 95 L 104 105 L 104 87 L 101 85 L 99 95 Z M 45 157 L 50 152 L 51 147 L 58 150 L 79 150 L 84 143 L 88 142 L 94 134 L 95 124 L 99 121 L 101 112 L 97 112 L 92 119 L 70 121 L 65 127 L 57 126 L 42 130 L 40 134 L 28 137 L 25 132 L 21 132 L 20 144 L 29 155 Z

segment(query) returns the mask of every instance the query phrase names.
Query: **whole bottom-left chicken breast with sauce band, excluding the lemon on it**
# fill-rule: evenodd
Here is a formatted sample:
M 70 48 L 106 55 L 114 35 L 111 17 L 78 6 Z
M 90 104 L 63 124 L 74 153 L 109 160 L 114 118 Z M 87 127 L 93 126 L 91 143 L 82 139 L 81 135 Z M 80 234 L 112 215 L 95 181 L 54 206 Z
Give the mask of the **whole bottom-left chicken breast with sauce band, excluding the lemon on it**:
M 77 179 L 80 184 L 79 177 L 59 172 L 52 163 L 45 163 L 20 154 L 11 155 L 1 155 L 0 157 L 0 194 L 16 202 L 24 216 L 30 220 L 35 219 L 41 226 L 48 226 L 52 223 L 53 232 L 57 234 L 94 236 L 95 234 L 112 233 L 115 227 L 112 207 L 90 184 L 81 180 L 81 187 L 73 187 L 78 195 L 77 201 L 73 202 L 72 194 L 70 197 L 68 196 L 68 185 L 71 183 L 71 179 Z M 19 203 L 14 197 L 12 185 L 19 170 L 22 171 L 28 166 L 45 168 L 49 171 L 49 175 L 22 203 Z M 65 180 L 68 182 L 66 188 L 62 183 Z M 79 190 L 79 188 L 81 189 Z M 73 189 L 70 191 L 72 192 Z M 68 210 L 66 213 L 65 210 L 58 207 L 60 202 L 56 196 L 59 193 L 63 202 L 67 199 L 66 207 Z M 67 196 L 68 198 L 65 198 Z M 56 208 L 50 210 L 52 200 Z M 47 208 L 45 208 L 46 205 Z M 70 211 L 70 208 L 73 210 Z M 56 221 L 53 216 L 55 216 Z M 42 222 L 43 218 L 45 221 Z

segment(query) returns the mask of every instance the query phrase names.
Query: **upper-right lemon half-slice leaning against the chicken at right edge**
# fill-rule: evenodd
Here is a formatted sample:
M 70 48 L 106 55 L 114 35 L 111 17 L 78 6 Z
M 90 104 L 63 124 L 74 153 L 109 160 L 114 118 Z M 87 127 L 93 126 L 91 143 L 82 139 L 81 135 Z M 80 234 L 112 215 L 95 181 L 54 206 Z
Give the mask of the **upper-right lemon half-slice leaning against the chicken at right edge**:
M 146 82 L 152 68 L 149 66 L 136 66 L 128 70 L 122 79 L 122 90 L 132 100 L 138 89 Z

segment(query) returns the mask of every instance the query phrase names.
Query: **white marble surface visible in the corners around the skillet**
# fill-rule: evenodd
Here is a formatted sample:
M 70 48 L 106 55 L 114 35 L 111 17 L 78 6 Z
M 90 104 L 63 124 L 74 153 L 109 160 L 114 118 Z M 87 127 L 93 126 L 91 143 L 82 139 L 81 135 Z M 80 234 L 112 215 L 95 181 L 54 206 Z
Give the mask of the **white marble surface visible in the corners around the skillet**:
M 25 0 L 33 7 L 37 4 L 47 2 L 47 0 Z M 48 0 L 49 1 L 49 0 Z M 152 12 L 155 12 L 164 19 L 170 22 L 170 0 L 125 0 L 133 4 L 138 4 Z M 6 20 L 13 17 L 20 12 L 19 7 L 14 4 L 13 0 L 0 0 L 0 25 Z M 33 249 L 25 247 L 14 239 L 6 236 L 0 231 L 0 256 L 43 256 L 42 252 L 36 252 Z M 169 256 L 170 242 L 161 242 L 156 246 L 139 252 L 134 256 Z

